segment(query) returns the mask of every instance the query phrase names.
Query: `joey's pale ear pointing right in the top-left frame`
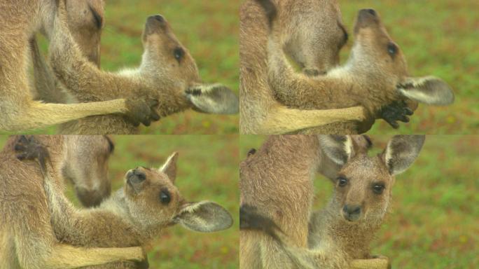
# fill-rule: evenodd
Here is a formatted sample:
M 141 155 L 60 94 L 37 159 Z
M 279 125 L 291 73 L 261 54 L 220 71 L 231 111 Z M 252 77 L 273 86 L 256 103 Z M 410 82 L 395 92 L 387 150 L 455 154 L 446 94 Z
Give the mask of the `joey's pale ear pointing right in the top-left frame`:
M 221 84 L 200 84 L 186 90 L 193 109 L 209 114 L 237 114 L 240 101 L 232 90 Z

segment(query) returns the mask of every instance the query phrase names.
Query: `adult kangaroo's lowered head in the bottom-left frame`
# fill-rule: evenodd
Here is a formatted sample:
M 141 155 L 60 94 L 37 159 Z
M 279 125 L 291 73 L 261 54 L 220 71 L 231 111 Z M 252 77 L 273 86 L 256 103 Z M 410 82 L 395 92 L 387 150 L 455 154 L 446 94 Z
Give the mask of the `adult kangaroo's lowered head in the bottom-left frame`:
M 63 177 L 74 182 L 78 199 L 90 207 L 99 205 L 111 192 L 108 160 L 113 142 L 102 135 L 67 135 L 64 137 Z

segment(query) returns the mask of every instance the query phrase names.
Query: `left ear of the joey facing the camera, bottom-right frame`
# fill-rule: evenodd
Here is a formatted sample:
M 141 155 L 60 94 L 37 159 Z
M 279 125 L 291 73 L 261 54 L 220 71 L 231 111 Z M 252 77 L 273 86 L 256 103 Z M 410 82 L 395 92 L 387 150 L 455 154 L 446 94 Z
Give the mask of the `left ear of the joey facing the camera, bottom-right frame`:
M 318 139 L 324 154 L 336 165 L 345 165 L 354 156 L 354 144 L 349 136 L 319 135 Z

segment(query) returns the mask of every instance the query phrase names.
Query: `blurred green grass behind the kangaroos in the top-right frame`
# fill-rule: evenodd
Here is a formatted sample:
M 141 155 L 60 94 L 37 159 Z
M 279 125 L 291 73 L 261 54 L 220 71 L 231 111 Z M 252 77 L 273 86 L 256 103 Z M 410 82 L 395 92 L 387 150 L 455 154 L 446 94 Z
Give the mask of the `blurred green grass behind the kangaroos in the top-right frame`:
M 454 89 L 452 106 L 419 105 L 410 123 L 394 130 L 377 120 L 371 134 L 479 133 L 479 1 L 477 0 L 356 0 L 338 1 L 352 33 L 357 11 L 375 8 L 392 39 L 403 50 L 412 76 L 434 75 Z M 353 39 L 353 36 L 351 34 Z M 342 60 L 352 46 L 342 50 Z

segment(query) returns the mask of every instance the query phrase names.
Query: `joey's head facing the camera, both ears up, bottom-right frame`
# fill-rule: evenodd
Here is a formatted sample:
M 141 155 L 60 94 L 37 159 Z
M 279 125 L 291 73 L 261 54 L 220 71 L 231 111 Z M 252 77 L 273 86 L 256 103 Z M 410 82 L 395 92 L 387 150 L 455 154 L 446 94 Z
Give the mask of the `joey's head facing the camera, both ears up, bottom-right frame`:
M 321 136 L 319 141 L 326 156 L 341 166 L 333 214 L 345 223 L 380 223 L 389 206 L 394 176 L 414 163 L 424 136 L 397 135 L 374 157 L 353 137 Z

